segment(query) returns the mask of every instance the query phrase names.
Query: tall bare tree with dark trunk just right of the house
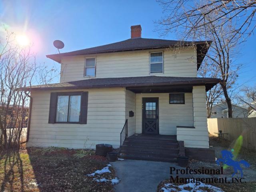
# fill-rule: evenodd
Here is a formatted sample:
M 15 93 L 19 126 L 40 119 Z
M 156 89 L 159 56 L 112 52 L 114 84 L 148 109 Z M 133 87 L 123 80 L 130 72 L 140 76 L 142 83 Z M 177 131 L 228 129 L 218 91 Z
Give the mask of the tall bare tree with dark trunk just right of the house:
M 207 63 L 215 67 L 214 69 L 211 67 L 217 72 L 214 77 L 222 79 L 220 85 L 228 105 L 228 116 L 232 117 L 232 104 L 228 90 L 234 85 L 238 77 L 237 70 L 239 70 L 239 66 L 236 66 L 232 59 L 236 56 L 236 46 L 242 42 L 240 36 L 231 35 L 235 31 L 232 20 L 219 19 L 221 11 L 217 8 L 212 11 L 212 6 L 215 6 L 217 2 L 214 0 L 192 3 L 192 7 L 189 8 L 185 7 L 187 0 L 160 2 L 164 5 L 164 11 L 168 12 L 168 15 L 157 23 L 165 33 L 176 30 L 182 40 L 211 40 L 211 42 L 205 42 L 206 48 L 210 47 L 206 54 Z M 206 2 L 207 4 L 204 5 Z M 222 6 L 221 2 L 217 4 Z M 211 75 L 208 77 L 212 77 Z

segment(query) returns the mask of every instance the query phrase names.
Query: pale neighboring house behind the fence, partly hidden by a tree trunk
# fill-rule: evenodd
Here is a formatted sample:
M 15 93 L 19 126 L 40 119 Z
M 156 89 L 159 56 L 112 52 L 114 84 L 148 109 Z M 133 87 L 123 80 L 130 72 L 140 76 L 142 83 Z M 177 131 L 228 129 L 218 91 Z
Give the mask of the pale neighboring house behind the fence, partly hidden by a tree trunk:
M 248 109 L 242 106 L 232 104 L 233 118 L 248 117 Z M 212 106 L 210 118 L 228 118 L 228 105 L 226 102 Z

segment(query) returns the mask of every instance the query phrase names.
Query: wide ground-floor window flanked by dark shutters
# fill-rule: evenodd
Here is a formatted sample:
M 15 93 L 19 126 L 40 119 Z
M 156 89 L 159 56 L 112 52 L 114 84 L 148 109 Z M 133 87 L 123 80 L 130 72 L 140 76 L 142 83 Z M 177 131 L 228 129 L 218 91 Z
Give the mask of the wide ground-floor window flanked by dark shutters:
M 87 123 L 88 92 L 51 93 L 49 123 Z

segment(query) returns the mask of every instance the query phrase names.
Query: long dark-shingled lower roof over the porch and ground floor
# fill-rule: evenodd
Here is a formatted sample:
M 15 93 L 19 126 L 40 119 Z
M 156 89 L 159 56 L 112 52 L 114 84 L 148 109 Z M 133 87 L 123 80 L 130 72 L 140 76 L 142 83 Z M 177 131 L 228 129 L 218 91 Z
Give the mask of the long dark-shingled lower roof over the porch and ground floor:
M 65 90 L 65 89 L 85 89 L 85 88 L 110 88 L 126 87 L 133 90 L 135 88 L 158 88 L 164 89 L 182 87 L 191 88 L 192 86 L 206 86 L 206 91 L 210 90 L 221 80 L 217 78 L 199 78 L 199 77 L 161 77 L 161 76 L 143 76 L 143 77 L 120 77 L 120 78 L 91 78 L 86 80 L 36 85 L 20 88 L 20 90 Z M 135 91 L 134 91 L 135 92 Z

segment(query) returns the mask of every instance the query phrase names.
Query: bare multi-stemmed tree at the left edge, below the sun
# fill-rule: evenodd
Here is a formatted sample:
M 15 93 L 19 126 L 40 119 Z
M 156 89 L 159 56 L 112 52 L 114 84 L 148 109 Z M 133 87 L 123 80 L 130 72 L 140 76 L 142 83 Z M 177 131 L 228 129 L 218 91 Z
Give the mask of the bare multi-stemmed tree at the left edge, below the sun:
M 36 74 L 43 80 L 51 77 L 42 66 L 36 66 L 30 47 L 16 44 L 14 33 L 6 31 L 6 39 L 0 40 L 0 50 L 0 148 L 8 150 L 20 147 L 27 118 L 30 96 L 20 88 L 31 86 Z

